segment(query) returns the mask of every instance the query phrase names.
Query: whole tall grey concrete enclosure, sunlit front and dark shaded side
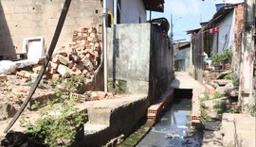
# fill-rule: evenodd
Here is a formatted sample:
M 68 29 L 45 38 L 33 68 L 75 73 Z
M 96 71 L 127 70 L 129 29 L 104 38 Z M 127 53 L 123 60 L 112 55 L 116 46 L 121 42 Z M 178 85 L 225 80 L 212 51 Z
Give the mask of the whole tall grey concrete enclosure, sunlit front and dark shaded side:
M 110 79 L 127 81 L 128 92 L 147 93 L 151 100 L 166 90 L 174 77 L 173 50 L 154 26 L 118 24 L 109 37 Z

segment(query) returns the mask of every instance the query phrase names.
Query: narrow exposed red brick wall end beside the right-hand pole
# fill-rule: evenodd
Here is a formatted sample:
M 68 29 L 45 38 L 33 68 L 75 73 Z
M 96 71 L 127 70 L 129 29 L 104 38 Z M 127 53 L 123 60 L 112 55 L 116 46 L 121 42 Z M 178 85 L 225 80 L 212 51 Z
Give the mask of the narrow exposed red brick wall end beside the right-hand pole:
M 244 5 L 238 5 L 235 8 L 235 30 L 234 30 L 234 52 L 233 52 L 233 71 L 239 70 L 239 52 L 242 50 L 242 32 L 243 32 Z

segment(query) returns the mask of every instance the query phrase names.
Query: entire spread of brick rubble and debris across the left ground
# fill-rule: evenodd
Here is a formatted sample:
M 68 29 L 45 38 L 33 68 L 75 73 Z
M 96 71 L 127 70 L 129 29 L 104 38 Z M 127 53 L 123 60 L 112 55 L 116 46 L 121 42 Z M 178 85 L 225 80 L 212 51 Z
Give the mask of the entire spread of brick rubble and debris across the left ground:
M 32 100 L 46 104 L 46 101 L 58 95 L 55 90 L 69 93 L 67 97 L 75 96 L 79 98 L 81 103 L 114 98 L 114 92 L 87 90 L 100 65 L 101 41 L 98 38 L 97 29 L 95 27 L 82 27 L 81 30 L 73 31 L 72 42 L 69 46 L 62 46 L 53 53 L 46 67 L 46 74 L 43 76 Z M 22 68 L 15 66 L 15 68 L 11 67 L 11 72 L 5 72 L 8 74 L 0 74 L 0 121 L 13 117 L 27 97 L 42 66 L 43 62 L 22 66 Z M 3 70 L 7 71 L 8 69 Z M 69 80 L 73 80 L 71 78 L 73 76 L 79 76 L 82 80 L 68 83 Z M 58 80 L 61 82 L 56 82 Z M 64 86 L 66 83 L 69 85 Z M 73 89 L 70 88 L 70 85 L 73 85 Z M 79 89 L 84 89 L 84 85 L 88 85 L 87 91 L 78 92 Z

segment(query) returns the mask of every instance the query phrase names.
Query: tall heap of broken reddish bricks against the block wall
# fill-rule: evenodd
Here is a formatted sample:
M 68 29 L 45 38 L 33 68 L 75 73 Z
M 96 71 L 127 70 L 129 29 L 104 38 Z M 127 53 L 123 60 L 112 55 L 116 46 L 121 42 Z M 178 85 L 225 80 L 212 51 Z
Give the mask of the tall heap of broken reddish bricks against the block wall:
M 47 75 L 58 78 L 65 73 L 84 74 L 91 78 L 101 62 L 101 43 L 95 27 L 73 31 L 72 43 L 54 53 L 47 68 Z

